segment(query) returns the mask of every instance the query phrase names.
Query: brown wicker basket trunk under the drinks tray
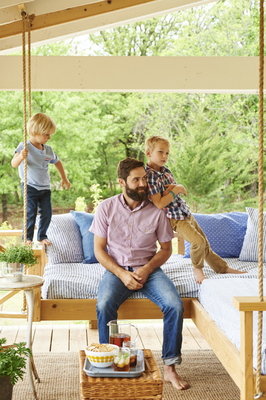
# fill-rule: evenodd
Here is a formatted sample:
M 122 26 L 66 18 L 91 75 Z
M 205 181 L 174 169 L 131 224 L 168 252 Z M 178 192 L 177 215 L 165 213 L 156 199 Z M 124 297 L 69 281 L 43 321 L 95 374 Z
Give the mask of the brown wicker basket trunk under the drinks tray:
M 150 350 L 144 350 L 145 371 L 139 378 L 92 378 L 83 371 L 85 352 L 79 352 L 83 400 L 162 400 L 163 381 Z

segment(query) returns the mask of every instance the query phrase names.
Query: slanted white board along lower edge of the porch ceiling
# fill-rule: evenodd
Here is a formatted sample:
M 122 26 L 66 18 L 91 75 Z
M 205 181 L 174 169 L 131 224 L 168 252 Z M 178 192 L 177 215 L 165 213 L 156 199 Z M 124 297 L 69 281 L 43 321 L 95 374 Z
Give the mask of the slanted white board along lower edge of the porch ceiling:
M 157 0 L 130 9 L 113 11 L 85 20 L 32 32 L 32 45 L 40 46 L 55 41 L 66 40 L 216 1 L 218 0 Z M 21 35 L 0 39 L 0 54 L 8 54 L 11 51 L 18 50 L 21 50 Z

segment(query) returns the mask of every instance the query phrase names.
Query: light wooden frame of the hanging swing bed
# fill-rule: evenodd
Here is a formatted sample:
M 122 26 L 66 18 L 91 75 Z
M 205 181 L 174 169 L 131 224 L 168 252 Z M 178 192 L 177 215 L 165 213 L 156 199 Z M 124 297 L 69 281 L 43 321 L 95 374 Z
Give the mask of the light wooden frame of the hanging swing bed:
M 0 236 L 20 236 L 22 231 L 0 231 Z M 184 242 L 178 240 L 178 253 L 184 254 Z M 35 247 L 37 264 L 28 269 L 31 275 L 43 276 L 47 263 L 43 245 Z M 5 300 L 15 295 L 8 293 Z M 89 320 L 90 328 L 97 327 L 96 299 L 48 299 L 41 298 L 41 290 L 35 289 L 33 321 L 68 321 Z M 0 299 L 0 304 L 4 298 Z M 232 344 L 214 320 L 202 307 L 197 298 L 182 298 L 184 318 L 192 319 L 208 342 L 217 358 L 227 370 L 231 378 L 240 389 L 241 400 L 252 400 L 256 393 L 256 371 L 253 369 L 253 331 L 252 316 L 254 311 L 266 311 L 264 302 L 257 297 L 235 297 L 234 306 L 240 312 L 241 321 L 241 348 L 240 351 Z M 0 311 L 0 318 L 26 318 L 22 313 L 8 313 Z M 119 319 L 159 319 L 163 314 L 158 306 L 148 299 L 128 299 L 118 310 Z M 266 392 L 266 375 L 261 377 L 261 390 Z

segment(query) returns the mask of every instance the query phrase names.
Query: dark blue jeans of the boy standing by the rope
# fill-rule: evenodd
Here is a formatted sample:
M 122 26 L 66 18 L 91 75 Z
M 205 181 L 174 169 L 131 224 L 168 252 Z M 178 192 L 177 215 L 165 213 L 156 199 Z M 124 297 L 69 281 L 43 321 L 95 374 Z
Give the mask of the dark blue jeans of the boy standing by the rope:
M 22 195 L 24 196 L 24 185 Z M 47 239 L 47 229 L 52 218 L 51 190 L 37 190 L 27 185 L 27 240 L 33 239 L 37 210 L 39 207 L 40 223 L 37 240 Z

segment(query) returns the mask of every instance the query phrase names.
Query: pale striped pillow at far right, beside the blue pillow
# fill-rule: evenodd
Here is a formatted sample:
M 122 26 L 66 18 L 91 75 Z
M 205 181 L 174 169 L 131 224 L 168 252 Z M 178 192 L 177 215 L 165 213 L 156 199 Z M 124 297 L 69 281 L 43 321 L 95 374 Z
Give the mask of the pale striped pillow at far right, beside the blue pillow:
M 259 243 L 259 210 L 246 207 L 248 213 L 248 226 L 241 249 L 239 260 L 258 261 L 258 243 Z M 263 213 L 263 262 L 266 262 L 266 213 Z

